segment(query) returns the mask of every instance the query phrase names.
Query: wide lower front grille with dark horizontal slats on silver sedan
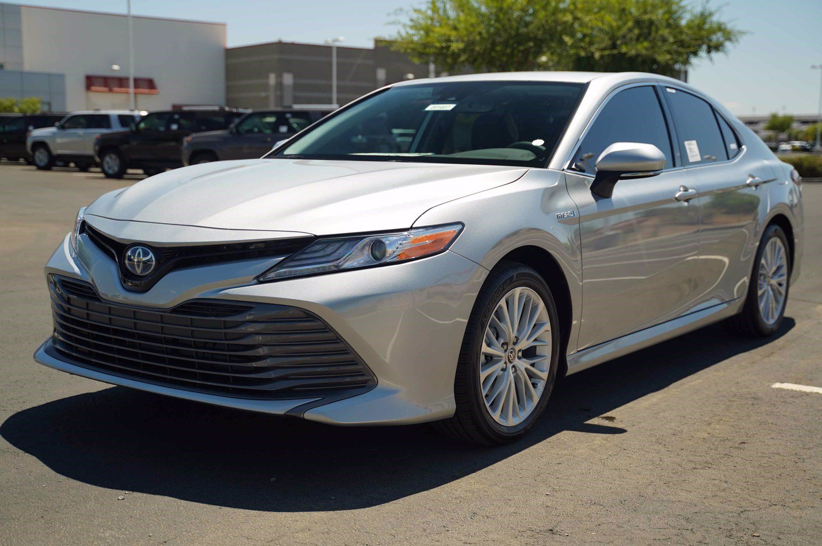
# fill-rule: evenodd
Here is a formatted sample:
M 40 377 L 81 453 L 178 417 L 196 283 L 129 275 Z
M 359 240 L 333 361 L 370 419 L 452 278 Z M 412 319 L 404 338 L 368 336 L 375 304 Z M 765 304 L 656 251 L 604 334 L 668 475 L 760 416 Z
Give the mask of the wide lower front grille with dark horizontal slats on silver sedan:
M 242 398 L 336 398 L 376 385 L 328 324 L 296 307 L 196 300 L 152 310 L 55 275 L 49 290 L 54 347 L 86 368 Z

